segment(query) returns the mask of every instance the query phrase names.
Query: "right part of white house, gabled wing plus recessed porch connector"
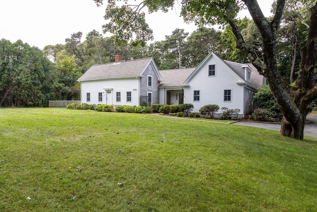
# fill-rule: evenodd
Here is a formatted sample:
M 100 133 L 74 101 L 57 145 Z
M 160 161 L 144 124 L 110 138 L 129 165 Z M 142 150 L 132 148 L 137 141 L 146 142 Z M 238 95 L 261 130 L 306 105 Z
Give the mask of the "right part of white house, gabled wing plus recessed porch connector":
M 240 115 L 251 114 L 253 95 L 265 82 L 251 64 L 223 61 L 210 53 L 196 69 L 159 71 L 160 104 L 191 103 L 193 112 L 207 104 L 220 108 L 240 109 Z

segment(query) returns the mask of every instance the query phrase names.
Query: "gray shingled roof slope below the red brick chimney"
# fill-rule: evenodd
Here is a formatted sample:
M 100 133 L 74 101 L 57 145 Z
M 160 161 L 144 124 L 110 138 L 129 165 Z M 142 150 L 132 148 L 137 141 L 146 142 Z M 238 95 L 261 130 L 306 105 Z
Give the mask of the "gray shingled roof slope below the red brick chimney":
M 94 65 L 90 67 L 78 81 L 140 76 L 151 60 L 152 58 L 145 58 L 133 61 L 121 61 L 119 63 Z

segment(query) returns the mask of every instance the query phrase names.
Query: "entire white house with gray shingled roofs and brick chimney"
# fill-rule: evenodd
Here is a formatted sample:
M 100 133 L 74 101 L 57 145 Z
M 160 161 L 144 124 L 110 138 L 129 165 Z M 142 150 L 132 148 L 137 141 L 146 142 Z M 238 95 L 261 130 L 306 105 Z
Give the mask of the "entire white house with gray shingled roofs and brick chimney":
M 240 109 L 240 116 L 255 109 L 253 95 L 266 84 L 251 64 L 220 59 L 210 53 L 197 68 L 162 70 L 152 58 L 92 66 L 78 81 L 81 102 L 89 104 L 194 105 L 193 112 L 207 104 Z

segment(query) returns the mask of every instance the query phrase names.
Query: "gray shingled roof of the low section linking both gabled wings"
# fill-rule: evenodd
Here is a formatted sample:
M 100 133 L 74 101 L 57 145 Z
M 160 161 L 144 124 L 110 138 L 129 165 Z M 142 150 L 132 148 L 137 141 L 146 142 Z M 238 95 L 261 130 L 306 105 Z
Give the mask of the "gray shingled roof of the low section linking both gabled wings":
M 185 79 L 195 70 L 196 68 L 189 69 L 172 69 L 172 70 L 161 70 L 159 71 L 163 81 L 160 83 L 160 87 L 168 86 L 181 86 L 184 84 Z

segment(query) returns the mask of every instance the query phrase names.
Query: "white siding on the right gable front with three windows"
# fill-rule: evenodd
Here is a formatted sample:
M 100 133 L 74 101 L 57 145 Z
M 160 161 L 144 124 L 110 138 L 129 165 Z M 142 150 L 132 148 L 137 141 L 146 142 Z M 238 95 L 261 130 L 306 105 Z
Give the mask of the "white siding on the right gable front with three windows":
M 209 65 L 216 65 L 215 76 L 208 76 Z M 197 70 L 196 74 L 185 88 L 184 103 L 192 103 L 194 105 L 193 112 L 198 113 L 199 109 L 207 104 L 216 104 L 229 109 L 239 108 L 240 113 L 243 112 L 243 85 L 238 85 L 241 82 L 232 70 L 230 70 L 221 60 L 215 57 L 205 63 Z M 223 99 L 224 90 L 231 90 L 231 101 L 226 102 Z M 194 101 L 194 90 L 200 91 L 200 101 Z M 221 110 L 218 111 L 221 113 Z

